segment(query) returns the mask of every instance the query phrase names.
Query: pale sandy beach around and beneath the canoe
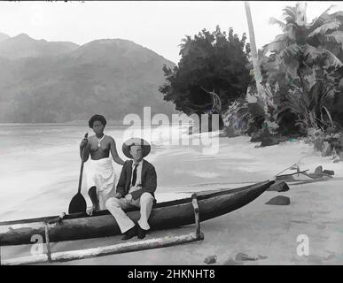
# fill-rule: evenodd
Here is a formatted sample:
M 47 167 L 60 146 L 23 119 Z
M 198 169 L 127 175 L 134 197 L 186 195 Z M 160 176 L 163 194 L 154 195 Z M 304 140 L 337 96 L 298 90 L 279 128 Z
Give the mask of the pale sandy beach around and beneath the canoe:
M 255 148 L 249 137 L 220 138 L 215 155 L 201 154 L 199 147 L 156 147 L 151 161 L 158 174 L 157 199 L 180 198 L 199 190 L 243 187 L 246 183 L 272 180 L 273 176 L 302 158 L 301 170 L 316 166 L 333 170 L 332 180 L 290 186 L 290 190 L 265 192 L 245 207 L 201 223 L 204 241 L 163 249 L 100 256 L 63 264 L 343 264 L 343 164 L 321 157 L 303 141 Z M 183 194 L 181 194 L 183 193 Z M 267 205 L 276 195 L 290 205 Z M 190 233 L 194 226 L 152 232 L 146 239 Z M 299 235 L 308 236 L 308 256 L 299 256 Z M 136 240 L 130 240 L 136 241 Z M 121 236 L 52 243 L 53 251 L 87 249 L 121 242 Z M 2 258 L 27 256 L 29 247 L 2 248 Z M 239 253 L 259 258 L 243 261 Z M 59 263 L 60 264 L 60 263 Z

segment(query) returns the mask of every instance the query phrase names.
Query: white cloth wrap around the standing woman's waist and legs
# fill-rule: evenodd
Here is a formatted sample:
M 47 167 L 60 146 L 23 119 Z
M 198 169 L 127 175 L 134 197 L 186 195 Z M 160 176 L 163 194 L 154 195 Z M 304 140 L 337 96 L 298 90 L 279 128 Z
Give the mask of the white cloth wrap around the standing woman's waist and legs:
M 97 187 L 100 210 L 105 210 L 106 200 L 115 194 L 116 176 L 112 157 L 89 159 L 86 167 L 87 187 Z

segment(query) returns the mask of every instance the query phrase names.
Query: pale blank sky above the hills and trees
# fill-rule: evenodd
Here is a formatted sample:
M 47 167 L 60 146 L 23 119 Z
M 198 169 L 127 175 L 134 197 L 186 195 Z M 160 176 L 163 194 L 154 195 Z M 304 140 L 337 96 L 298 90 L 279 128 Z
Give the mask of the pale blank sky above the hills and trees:
M 257 47 L 272 41 L 280 29 L 269 25 L 269 18 L 281 19 L 282 9 L 295 2 L 250 2 Z M 342 2 L 308 2 L 311 20 Z M 177 63 L 185 34 L 201 29 L 213 31 L 233 27 L 235 33 L 247 33 L 243 1 L 175 2 L 0 2 L 0 32 L 15 36 L 28 34 L 35 39 L 84 44 L 102 38 L 122 38 L 154 50 Z

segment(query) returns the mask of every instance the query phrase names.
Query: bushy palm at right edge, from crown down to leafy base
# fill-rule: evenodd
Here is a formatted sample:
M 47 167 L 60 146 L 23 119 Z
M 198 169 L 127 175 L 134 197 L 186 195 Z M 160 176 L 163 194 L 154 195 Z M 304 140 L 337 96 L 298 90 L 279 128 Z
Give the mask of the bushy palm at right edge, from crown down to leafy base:
M 271 24 L 282 28 L 283 34 L 263 47 L 264 54 L 270 51 L 276 56 L 277 68 L 288 68 L 285 77 L 294 81 L 279 113 L 295 113 L 305 131 L 309 127 L 323 127 L 324 114 L 331 120 L 326 105 L 338 86 L 335 73 L 343 65 L 338 57 L 343 43 L 342 12 L 329 14 L 333 7 L 311 23 L 306 16 L 307 4 L 285 7 L 284 21 L 270 19 Z

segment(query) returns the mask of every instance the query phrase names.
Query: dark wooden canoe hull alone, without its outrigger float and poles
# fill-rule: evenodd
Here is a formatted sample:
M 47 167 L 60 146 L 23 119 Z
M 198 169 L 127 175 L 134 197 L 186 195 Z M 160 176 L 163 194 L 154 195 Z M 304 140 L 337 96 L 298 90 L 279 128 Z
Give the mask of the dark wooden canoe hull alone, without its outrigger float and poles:
M 237 210 L 267 190 L 274 180 L 264 181 L 246 187 L 219 189 L 197 193 L 199 220 L 216 218 Z M 129 218 L 137 221 L 139 210 L 127 210 Z M 195 222 L 192 198 L 156 203 L 152 208 L 149 223 L 152 230 L 175 228 Z M 92 216 L 74 213 L 46 218 L 31 218 L 0 222 L 0 245 L 21 245 L 32 243 L 31 237 L 40 234 L 45 238 L 49 226 L 51 242 L 99 238 L 120 234 L 113 216 L 107 210 L 97 211 Z

